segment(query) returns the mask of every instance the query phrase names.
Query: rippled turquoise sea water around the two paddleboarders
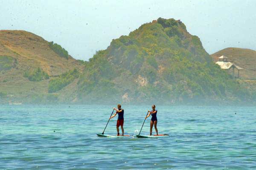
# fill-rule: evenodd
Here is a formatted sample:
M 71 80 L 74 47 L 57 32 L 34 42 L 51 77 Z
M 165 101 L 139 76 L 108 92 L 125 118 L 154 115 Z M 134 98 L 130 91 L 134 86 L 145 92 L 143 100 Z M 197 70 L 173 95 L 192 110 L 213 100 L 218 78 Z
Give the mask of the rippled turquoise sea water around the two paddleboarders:
M 157 106 L 159 133 L 171 137 L 97 137 L 112 107 L 1 105 L 0 169 L 256 169 L 256 107 Z M 123 108 L 133 136 L 150 105 Z M 105 134 L 115 125 L 116 117 Z

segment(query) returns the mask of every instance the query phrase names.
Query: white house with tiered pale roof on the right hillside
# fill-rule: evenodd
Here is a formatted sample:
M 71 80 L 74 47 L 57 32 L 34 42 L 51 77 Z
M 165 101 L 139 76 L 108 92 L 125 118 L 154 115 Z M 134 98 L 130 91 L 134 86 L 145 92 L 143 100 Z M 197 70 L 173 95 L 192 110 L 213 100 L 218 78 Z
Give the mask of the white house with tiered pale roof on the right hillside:
M 243 68 L 233 64 L 232 62 L 228 62 L 227 56 L 218 57 L 218 61 L 215 64 L 218 64 L 221 69 L 227 70 L 228 74 L 231 74 L 234 78 L 239 78 L 239 71 L 243 70 Z

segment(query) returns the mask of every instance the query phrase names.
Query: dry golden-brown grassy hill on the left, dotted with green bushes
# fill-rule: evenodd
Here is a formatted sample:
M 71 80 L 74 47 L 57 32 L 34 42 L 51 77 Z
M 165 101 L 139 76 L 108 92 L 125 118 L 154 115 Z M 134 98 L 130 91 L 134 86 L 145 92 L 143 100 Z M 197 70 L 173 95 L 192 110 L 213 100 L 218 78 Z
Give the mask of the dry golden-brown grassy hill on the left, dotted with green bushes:
M 81 62 L 60 45 L 26 31 L 0 31 L 0 92 L 6 94 L 0 102 L 58 100 L 62 94 L 49 94 L 48 84 L 74 68 L 81 71 Z

